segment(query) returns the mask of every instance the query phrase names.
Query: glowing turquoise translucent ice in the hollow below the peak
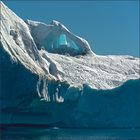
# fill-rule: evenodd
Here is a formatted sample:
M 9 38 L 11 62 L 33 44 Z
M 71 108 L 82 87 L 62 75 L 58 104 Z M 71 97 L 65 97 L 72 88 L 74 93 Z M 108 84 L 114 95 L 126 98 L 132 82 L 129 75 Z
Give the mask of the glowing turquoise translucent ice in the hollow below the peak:
M 53 36 L 53 37 L 52 37 Z M 76 56 L 84 53 L 84 49 L 77 45 L 66 34 L 58 35 L 50 34 L 44 40 L 45 49 L 50 53 L 58 53 L 62 55 Z

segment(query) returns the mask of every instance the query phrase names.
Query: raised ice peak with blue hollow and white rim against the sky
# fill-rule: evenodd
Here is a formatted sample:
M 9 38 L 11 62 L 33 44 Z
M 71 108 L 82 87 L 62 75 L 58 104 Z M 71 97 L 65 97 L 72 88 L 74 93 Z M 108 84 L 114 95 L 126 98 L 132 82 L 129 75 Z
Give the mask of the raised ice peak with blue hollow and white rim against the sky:
M 27 20 L 26 23 L 39 50 L 43 48 L 51 53 L 69 54 L 71 56 L 94 55 L 85 39 L 73 34 L 58 21 L 52 21 L 48 25 L 30 20 Z M 66 46 L 60 47 L 62 44 Z

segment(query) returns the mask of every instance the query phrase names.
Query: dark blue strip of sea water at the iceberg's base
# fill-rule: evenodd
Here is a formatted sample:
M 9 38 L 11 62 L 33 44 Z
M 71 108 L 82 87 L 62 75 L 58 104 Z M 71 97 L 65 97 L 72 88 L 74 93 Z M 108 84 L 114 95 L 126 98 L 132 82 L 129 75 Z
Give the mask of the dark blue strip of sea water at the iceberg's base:
M 0 140 L 140 140 L 140 129 L 4 128 Z

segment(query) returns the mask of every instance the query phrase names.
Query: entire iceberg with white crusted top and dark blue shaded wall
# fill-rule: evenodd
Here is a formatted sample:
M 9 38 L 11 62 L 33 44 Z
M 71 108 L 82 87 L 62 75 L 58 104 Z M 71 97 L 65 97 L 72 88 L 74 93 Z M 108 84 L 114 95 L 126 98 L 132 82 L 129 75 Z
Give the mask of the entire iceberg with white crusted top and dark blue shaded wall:
M 96 55 L 60 22 L 0 11 L 1 124 L 140 126 L 139 58 Z

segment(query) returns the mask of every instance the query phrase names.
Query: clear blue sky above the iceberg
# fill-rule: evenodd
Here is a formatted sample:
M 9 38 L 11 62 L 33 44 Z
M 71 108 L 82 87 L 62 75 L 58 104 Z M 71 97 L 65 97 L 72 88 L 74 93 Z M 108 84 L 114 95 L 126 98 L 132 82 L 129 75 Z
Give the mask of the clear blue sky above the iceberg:
M 2 0 L 18 16 L 63 23 L 99 55 L 139 56 L 139 1 Z

